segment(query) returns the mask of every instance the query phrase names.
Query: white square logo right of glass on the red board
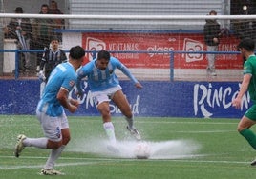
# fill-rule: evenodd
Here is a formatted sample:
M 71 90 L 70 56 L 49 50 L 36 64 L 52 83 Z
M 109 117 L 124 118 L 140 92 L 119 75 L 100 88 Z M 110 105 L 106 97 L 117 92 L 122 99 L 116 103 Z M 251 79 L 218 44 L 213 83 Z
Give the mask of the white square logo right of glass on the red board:
M 183 42 L 184 51 L 203 51 L 203 43 L 190 38 L 184 38 Z M 186 62 L 195 62 L 203 60 L 203 53 L 183 53 L 182 57 Z

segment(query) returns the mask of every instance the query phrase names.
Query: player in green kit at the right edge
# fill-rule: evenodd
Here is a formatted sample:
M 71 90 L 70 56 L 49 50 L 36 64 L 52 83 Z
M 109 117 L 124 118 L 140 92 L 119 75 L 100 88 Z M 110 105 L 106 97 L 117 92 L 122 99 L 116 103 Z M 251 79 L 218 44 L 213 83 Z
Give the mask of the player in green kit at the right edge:
M 244 63 L 243 82 L 237 97 L 232 101 L 232 105 L 236 109 L 240 109 L 242 98 L 248 90 L 250 99 L 254 104 L 245 112 L 245 115 L 239 122 L 238 131 L 245 137 L 250 146 L 256 149 L 256 135 L 250 129 L 250 127 L 256 123 L 256 56 L 254 54 L 254 48 L 254 41 L 249 38 L 243 39 L 238 45 L 238 49 L 241 51 L 246 61 Z M 255 166 L 256 160 L 254 160 L 251 165 Z

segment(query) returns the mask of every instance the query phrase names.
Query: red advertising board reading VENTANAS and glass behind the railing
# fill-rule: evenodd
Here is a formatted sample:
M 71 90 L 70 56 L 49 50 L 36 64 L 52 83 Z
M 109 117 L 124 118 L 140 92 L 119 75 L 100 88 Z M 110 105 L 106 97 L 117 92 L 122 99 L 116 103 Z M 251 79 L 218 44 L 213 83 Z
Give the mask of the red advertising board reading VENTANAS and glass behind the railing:
M 220 51 L 236 51 L 238 39 L 233 36 L 223 37 Z M 113 53 L 129 68 L 168 69 L 170 53 L 174 55 L 175 69 L 205 69 L 207 61 L 203 53 L 182 53 L 181 51 L 204 51 L 202 33 L 93 33 L 82 34 L 82 46 L 85 50 L 145 51 L 144 53 Z M 154 51 L 154 52 L 152 52 Z M 160 53 L 156 53 L 160 51 Z M 87 54 L 87 61 L 92 54 Z M 241 69 L 239 55 L 218 54 L 218 69 Z

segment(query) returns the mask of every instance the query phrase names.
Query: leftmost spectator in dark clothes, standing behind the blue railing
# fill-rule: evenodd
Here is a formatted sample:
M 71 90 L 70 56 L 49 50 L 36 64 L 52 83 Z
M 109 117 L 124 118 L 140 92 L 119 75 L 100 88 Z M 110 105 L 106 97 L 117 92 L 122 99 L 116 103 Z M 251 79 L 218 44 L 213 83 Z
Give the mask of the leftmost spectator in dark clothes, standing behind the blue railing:
M 17 7 L 15 13 L 23 13 L 23 9 Z M 5 28 L 5 38 L 17 39 L 18 49 L 29 50 L 32 38 L 32 24 L 30 19 L 12 18 L 9 25 Z M 21 53 L 19 57 L 19 70 L 29 71 L 30 68 L 30 53 Z

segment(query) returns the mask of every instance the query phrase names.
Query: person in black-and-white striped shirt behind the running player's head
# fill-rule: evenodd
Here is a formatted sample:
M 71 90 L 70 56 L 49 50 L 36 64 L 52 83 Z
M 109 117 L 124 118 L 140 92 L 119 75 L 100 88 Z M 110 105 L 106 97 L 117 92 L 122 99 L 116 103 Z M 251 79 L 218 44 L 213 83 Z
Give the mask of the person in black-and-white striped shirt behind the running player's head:
M 59 49 L 59 40 L 56 36 L 53 36 L 51 41 L 51 48 L 45 51 L 40 63 L 39 79 L 45 80 L 47 82 L 52 70 L 58 64 L 65 61 L 67 61 L 65 51 Z M 45 74 L 43 71 L 44 68 Z

